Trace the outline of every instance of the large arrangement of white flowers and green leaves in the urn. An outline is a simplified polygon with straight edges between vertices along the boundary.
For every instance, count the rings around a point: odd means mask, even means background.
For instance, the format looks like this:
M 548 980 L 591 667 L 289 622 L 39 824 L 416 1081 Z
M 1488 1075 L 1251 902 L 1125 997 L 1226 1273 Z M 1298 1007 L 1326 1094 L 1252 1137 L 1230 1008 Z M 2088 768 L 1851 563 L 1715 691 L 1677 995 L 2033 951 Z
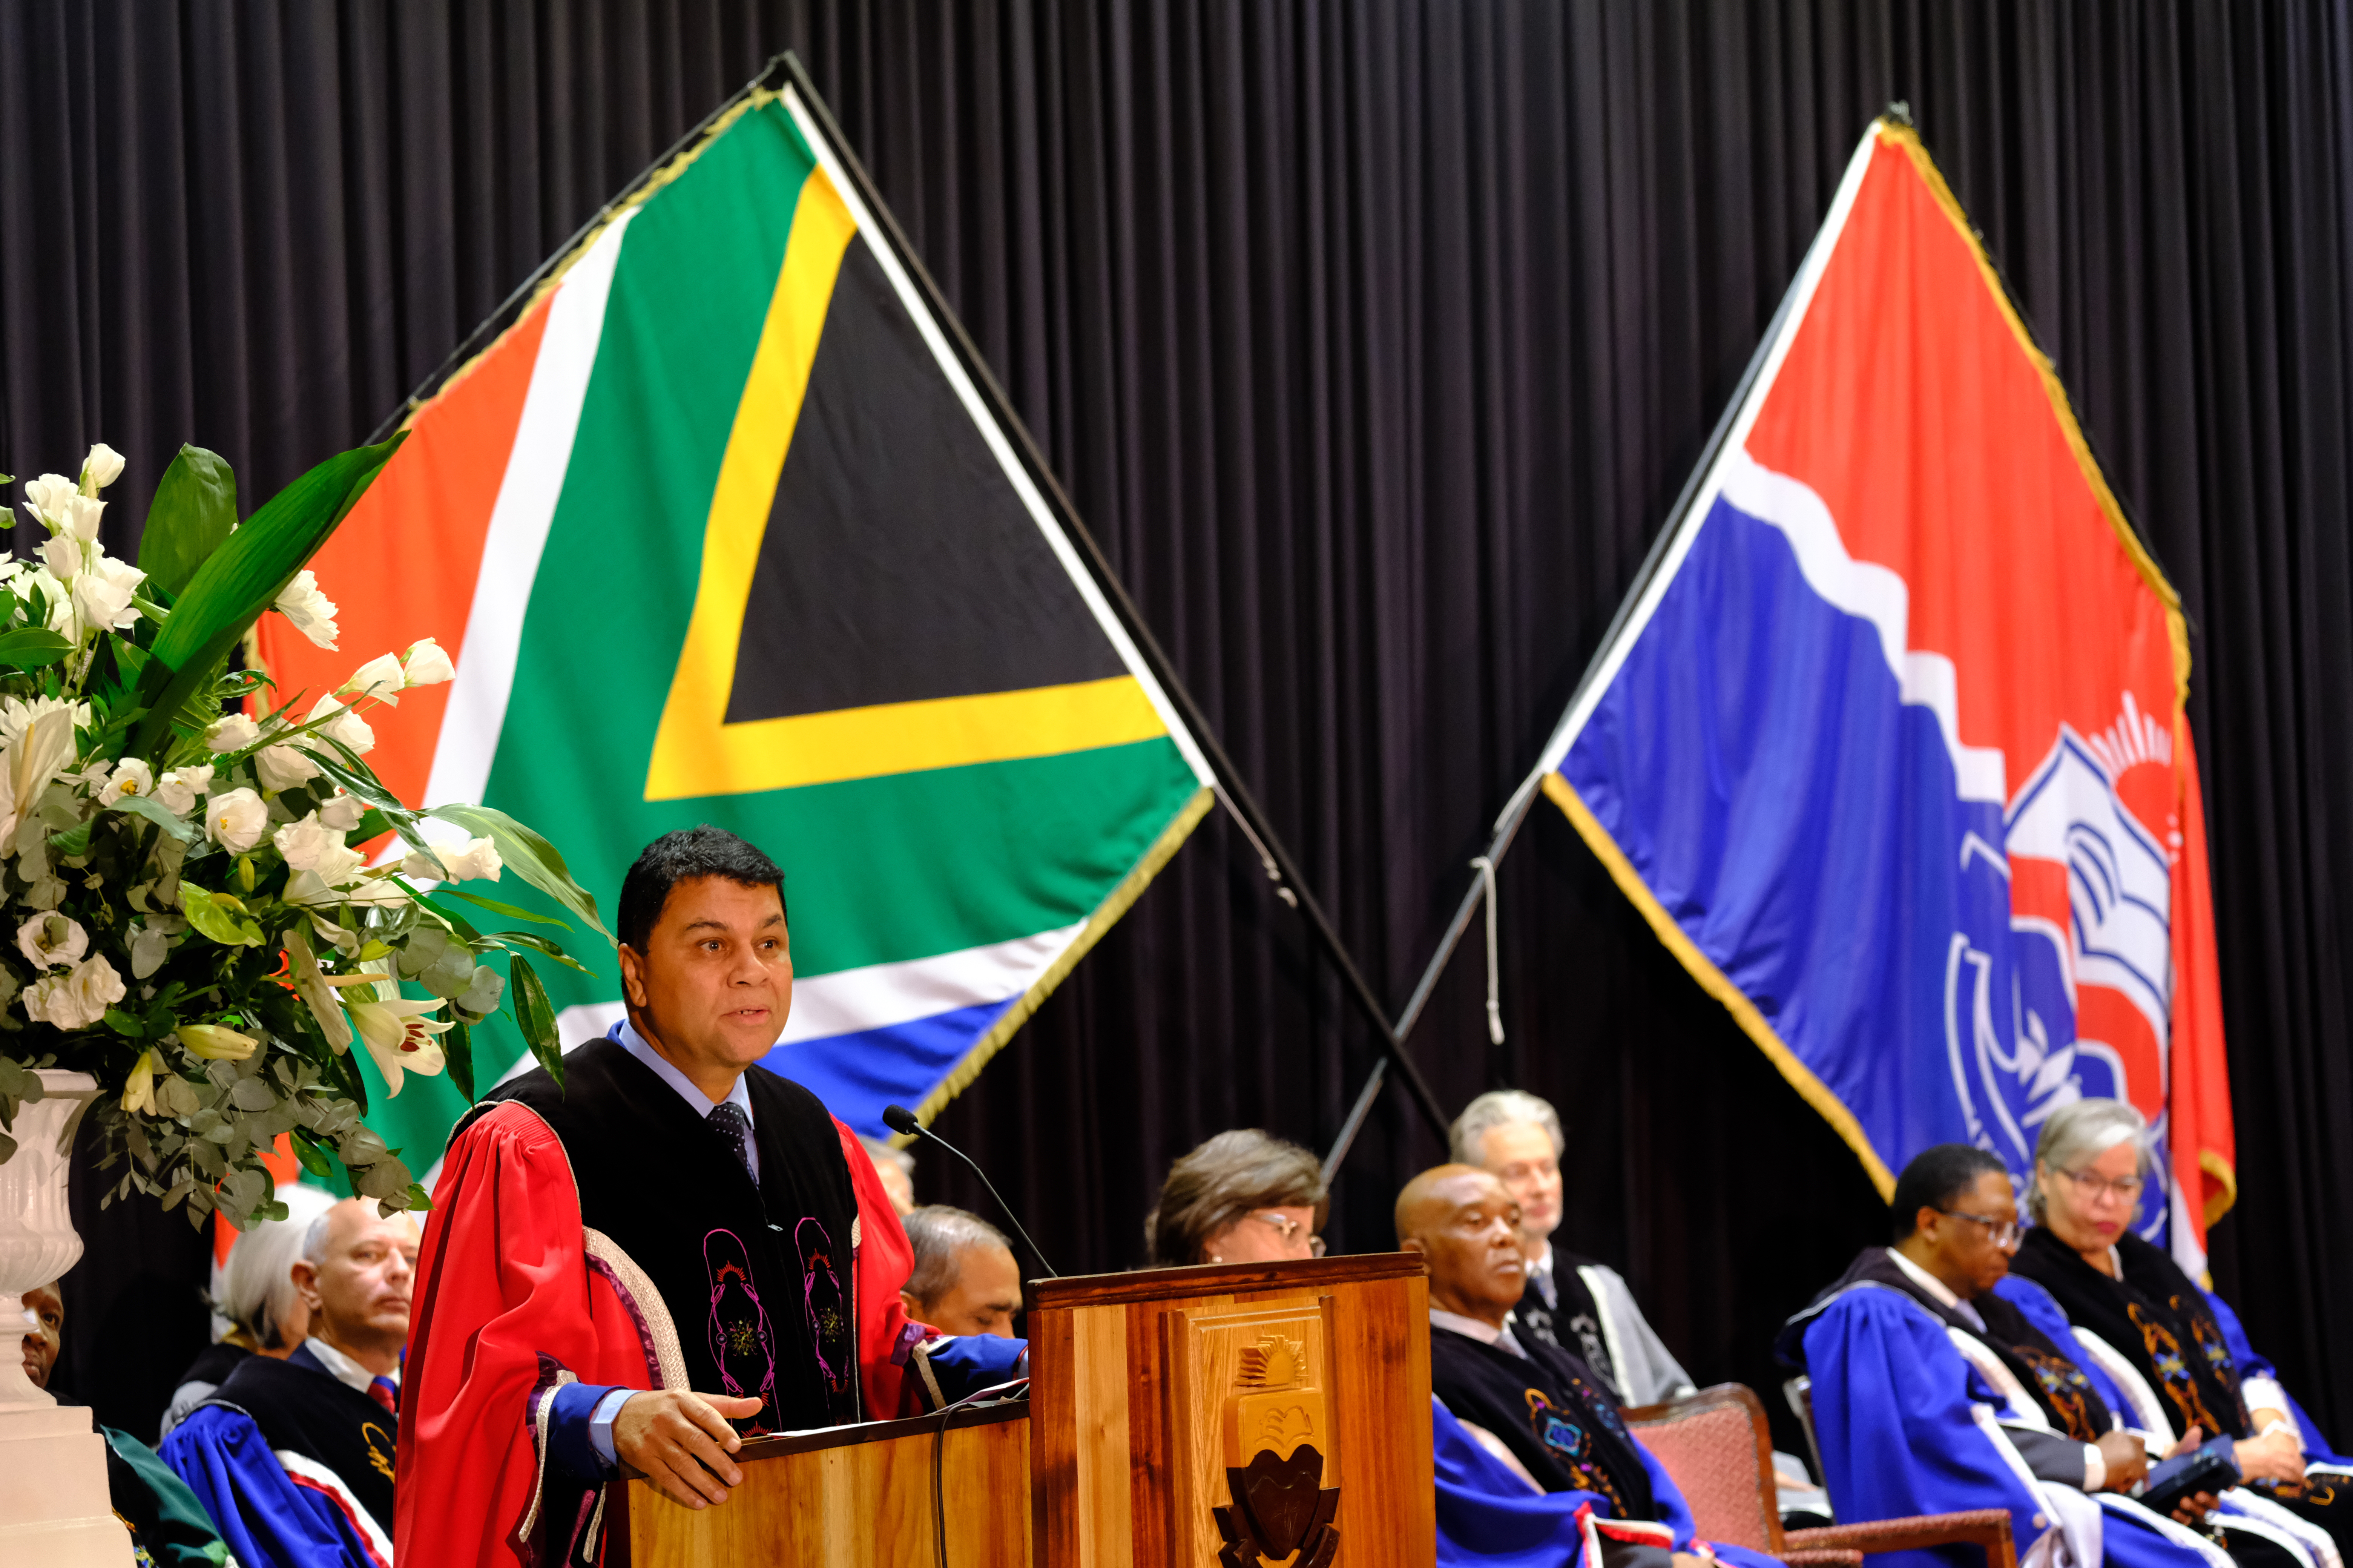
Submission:
M 136 565 L 99 542 L 113 447 L 92 447 L 73 480 L 24 485 L 49 539 L 38 560 L 0 556 L 0 942 L 14 932 L 0 946 L 0 1161 L 16 1104 L 42 1092 L 33 1069 L 66 1067 L 99 1078 L 104 1165 L 127 1165 L 108 1203 L 136 1187 L 198 1224 L 278 1215 L 259 1156 L 292 1135 L 313 1172 L 341 1163 L 358 1194 L 414 1208 L 407 1165 L 360 1123 L 353 1043 L 395 1095 L 405 1074 L 449 1071 L 471 1097 L 468 1029 L 504 1001 L 560 1071 L 522 949 L 572 958 L 546 937 L 478 932 L 459 902 L 546 918 L 456 883 L 513 869 L 602 932 L 595 899 L 520 822 L 414 812 L 365 760 L 367 711 L 452 680 L 449 655 L 426 638 L 308 704 L 231 669 L 271 610 L 336 645 L 336 607 L 304 560 L 395 445 L 320 464 L 242 527 L 226 464 L 181 447 Z M 362 848 L 388 838 L 407 852 Z M 501 954 L 504 977 L 485 963 Z

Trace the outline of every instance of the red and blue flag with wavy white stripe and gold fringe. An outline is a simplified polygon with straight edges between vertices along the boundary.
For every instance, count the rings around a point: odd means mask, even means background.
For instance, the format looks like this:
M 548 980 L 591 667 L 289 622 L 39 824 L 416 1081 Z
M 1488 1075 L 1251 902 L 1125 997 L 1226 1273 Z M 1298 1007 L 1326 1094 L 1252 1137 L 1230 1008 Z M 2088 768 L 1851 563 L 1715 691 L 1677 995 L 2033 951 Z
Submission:
M 2139 1229 L 2233 1198 L 2172 586 L 1951 188 L 1878 122 L 1544 756 L 1661 939 L 1880 1191 L 2137 1104 Z

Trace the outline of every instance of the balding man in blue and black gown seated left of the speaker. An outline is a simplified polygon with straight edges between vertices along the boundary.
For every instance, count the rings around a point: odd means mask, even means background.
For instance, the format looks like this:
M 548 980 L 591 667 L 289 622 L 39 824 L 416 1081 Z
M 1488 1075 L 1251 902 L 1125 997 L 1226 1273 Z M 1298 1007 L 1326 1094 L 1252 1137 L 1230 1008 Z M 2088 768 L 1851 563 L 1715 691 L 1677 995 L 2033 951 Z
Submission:
M 240 1361 L 165 1439 L 165 1462 L 247 1568 L 393 1561 L 414 1267 L 414 1220 L 365 1198 L 329 1208 L 292 1267 L 311 1337 L 285 1361 Z

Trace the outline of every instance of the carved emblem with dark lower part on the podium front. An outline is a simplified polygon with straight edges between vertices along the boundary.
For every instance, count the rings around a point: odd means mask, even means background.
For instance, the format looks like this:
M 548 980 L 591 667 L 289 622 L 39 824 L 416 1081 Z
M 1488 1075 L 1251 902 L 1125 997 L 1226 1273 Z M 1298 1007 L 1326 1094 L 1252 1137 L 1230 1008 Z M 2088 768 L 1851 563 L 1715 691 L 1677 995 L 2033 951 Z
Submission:
M 1294 1568 L 1329 1568 L 1339 1552 L 1339 1488 L 1322 1483 L 1329 1448 L 1325 1391 L 1306 1347 L 1280 1333 L 1242 1349 L 1226 1396 L 1226 1486 L 1231 1504 L 1212 1509 L 1226 1549 L 1224 1568 L 1259 1568 L 1294 1559 Z

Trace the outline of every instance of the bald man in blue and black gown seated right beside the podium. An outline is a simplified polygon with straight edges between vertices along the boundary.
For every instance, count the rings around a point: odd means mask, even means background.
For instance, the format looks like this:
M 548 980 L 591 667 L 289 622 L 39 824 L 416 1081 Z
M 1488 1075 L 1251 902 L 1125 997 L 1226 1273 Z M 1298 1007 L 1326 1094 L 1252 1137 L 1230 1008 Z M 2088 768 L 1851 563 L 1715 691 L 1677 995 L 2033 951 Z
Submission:
M 1513 1335 L 1520 1205 L 1473 1165 L 1398 1194 L 1398 1245 L 1431 1264 L 1438 1561 L 1697 1568 L 1774 1559 L 1692 1537 L 1692 1509 L 1574 1351 Z M 1588 1540 L 1591 1530 L 1591 1540 Z

